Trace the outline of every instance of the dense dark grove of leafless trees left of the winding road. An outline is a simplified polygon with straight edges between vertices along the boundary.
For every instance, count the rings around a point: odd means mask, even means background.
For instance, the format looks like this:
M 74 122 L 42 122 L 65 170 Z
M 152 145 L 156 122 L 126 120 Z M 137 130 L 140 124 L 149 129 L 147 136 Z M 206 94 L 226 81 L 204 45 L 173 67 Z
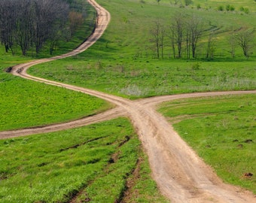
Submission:
M 50 54 L 60 38 L 69 39 L 82 14 L 72 11 L 75 0 L 1 0 L 0 38 L 5 51 L 20 47 L 39 53 L 44 43 L 50 43 Z

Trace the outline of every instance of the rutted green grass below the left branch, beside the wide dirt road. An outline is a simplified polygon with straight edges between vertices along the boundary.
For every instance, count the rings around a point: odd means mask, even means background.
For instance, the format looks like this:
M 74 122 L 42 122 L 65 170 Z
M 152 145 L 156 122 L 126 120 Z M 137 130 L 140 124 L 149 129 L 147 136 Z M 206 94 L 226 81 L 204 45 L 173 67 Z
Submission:
M 67 202 L 78 192 L 91 202 L 114 202 L 122 197 L 141 153 L 133 127 L 123 118 L 2 140 L 1 202 Z M 148 178 L 150 171 L 145 173 Z M 153 188 L 146 189 L 152 193 L 145 202 L 163 200 L 154 183 Z

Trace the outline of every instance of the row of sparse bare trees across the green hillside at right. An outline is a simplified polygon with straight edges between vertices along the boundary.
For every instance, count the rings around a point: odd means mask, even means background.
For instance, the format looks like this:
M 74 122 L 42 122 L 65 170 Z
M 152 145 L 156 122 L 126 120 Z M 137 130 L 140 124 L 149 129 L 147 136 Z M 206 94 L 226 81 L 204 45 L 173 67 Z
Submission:
M 215 28 L 218 30 L 218 28 Z M 206 43 L 206 58 L 212 58 L 215 53 L 215 29 L 209 31 L 206 22 L 195 14 L 176 13 L 168 26 L 159 20 L 151 28 L 150 41 L 154 44 L 157 59 L 163 58 L 163 47 L 171 47 L 173 58 L 197 58 L 197 47 L 202 37 L 209 35 Z M 168 40 L 166 40 L 168 38 Z M 167 44 L 166 41 L 169 41 Z M 166 45 L 167 44 L 167 45 Z M 254 30 L 239 29 L 229 38 L 231 56 L 235 56 L 235 47 L 242 48 L 243 55 L 248 58 L 254 47 Z

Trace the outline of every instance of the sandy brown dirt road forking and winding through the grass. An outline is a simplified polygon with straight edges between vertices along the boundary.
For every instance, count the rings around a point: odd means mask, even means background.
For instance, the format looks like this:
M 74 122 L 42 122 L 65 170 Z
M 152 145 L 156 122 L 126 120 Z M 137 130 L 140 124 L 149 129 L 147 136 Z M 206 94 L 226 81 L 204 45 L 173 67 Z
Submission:
M 23 65 L 17 65 L 12 69 L 12 74 L 47 83 L 54 86 L 62 86 L 79 92 L 105 99 L 116 105 L 116 108 L 98 114 L 94 117 L 87 117 L 70 123 L 44 126 L 33 129 L 22 129 L 10 132 L 0 132 L 0 138 L 11 138 L 22 135 L 32 135 L 42 132 L 53 132 L 61 129 L 69 129 L 76 126 L 86 126 L 101 120 L 109 120 L 114 117 L 129 117 L 136 128 L 145 152 L 148 153 L 154 180 L 156 180 L 160 191 L 172 202 L 256 202 L 256 197 L 248 191 L 239 187 L 222 183 L 211 168 L 206 165 L 200 157 L 192 150 L 172 129 L 166 119 L 154 110 L 154 106 L 160 102 L 176 98 L 193 98 L 211 95 L 245 94 L 256 93 L 246 92 L 206 92 L 183 95 L 166 95 L 154 98 L 145 98 L 138 101 L 130 101 L 103 92 L 91 89 L 72 86 L 33 77 L 26 74 L 26 70 L 32 65 L 41 62 L 49 62 L 55 59 L 62 59 L 81 53 L 99 39 L 108 26 L 110 14 L 100 7 L 94 0 L 89 0 L 98 12 L 98 24 L 95 32 L 87 39 L 81 47 L 62 56 L 55 56 L 50 59 L 40 59 Z

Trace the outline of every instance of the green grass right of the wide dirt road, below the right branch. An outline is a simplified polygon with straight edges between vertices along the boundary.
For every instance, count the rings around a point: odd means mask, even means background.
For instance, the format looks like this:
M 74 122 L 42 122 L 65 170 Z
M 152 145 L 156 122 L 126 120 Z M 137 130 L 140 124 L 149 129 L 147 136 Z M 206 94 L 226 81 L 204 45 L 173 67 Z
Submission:
M 256 95 L 166 102 L 160 112 L 225 182 L 256 193 Z

